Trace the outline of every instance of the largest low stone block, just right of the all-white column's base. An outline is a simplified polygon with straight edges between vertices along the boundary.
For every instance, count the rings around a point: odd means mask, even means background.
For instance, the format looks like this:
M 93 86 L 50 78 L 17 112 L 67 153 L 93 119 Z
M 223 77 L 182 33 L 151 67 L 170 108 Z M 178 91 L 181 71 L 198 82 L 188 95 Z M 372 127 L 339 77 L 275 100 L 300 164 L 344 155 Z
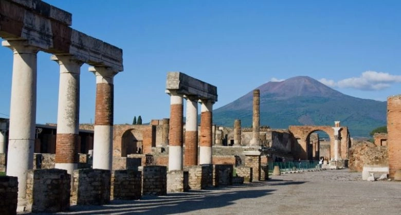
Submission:
M 32 212 L 60 212 L 69 209 L 71 175 L 64 169 L 28 170 L 26 199 Z

